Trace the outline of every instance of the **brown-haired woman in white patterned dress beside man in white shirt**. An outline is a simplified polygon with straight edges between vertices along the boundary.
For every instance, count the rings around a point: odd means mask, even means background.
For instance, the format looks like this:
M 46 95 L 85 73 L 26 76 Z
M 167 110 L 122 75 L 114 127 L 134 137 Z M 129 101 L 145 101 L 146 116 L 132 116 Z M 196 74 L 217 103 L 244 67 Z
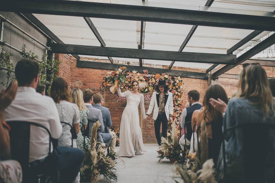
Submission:
M 70 93 L 67 82 L 61 78 L 57 77 L 52 81 L 50 96 L 56 103 L 56 108 L 58 111 L 58 116 L 60 122 L 66 122 L 73 127 L 74 132 L 71 132 L 71 127 L 67 124 L 62 123 L 62 134 L 58 138 L 58 146 L 72 146 L 72 136 L 73 133 L 79 133 L 79 122 L 80 122 L 80 114 L 79 109 L 76 104 L 71 103 Z M 76 146 L 76 139 L 73 139 L 73 146 Z M 80 174 L 78 173 L 75 183 L 80 182 Z

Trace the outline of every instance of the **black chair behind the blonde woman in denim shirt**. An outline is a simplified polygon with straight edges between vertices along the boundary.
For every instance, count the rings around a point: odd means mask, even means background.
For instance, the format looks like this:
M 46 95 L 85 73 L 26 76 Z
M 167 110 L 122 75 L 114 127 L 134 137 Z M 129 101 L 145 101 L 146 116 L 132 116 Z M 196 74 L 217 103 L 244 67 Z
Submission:
M 242 130 L 245 182 L 263 182 L 265 170 L 264 167 L 267 163 L 267 158 L 260 158 L 259 154 L 261 154 L 261 157 L 267 157 L 268 148 L 273 148 L 272 145 L 270 146 L 271 143 L 274 143 L 269 139 L 270 129 L 275 130 L 275 125 L 263 123 L 241 124 L 224 130 L 222 148 L 223 171 L 225 178 L 227 173 L 225 157 L 225 135 L 229 130 Z M 274 163 L 274 159 L 269 162 Z

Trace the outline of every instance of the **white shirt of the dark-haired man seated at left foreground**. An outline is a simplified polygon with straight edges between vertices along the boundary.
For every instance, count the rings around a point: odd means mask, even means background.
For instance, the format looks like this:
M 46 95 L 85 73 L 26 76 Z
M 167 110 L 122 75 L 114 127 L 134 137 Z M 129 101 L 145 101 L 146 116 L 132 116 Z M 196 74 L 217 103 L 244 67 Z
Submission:
M 45 126 L 54 139 L 58 139 L 62 134 L 54 100 L 48 96 L 42 96 L 32 87 L 18 87 L 15 99 L 6 108 L 5 114 L 7 122 L 28 121 Z M 41 127 L 31 125 L 29 162 L 47 157 L 48 152 L 48 133 Z

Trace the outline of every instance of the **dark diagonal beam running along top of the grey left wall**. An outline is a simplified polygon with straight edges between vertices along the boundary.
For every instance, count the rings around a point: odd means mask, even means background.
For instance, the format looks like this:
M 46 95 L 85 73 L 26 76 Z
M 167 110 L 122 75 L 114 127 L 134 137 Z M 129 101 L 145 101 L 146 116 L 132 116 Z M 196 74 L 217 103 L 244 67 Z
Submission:
M 50 29 L 48 29 L 40 20 L 38 20 L 33 14 L 31 13 L 22 13 L 26 18 L 28 18 L 34 25 L 36 25 L 39 29 L 41 29 L 45 34 L 47 34 L 50 38 L 52 38 L 56 43 L 63 44 L 64 42 L 61 41 Z M 80 60 L 79 55 L 72 55 L 77 60 Z

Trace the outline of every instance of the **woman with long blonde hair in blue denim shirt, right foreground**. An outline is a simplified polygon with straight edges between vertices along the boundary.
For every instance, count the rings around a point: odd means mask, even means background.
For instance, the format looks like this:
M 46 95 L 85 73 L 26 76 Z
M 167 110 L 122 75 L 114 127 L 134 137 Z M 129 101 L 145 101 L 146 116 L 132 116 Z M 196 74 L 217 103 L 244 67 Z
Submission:
M 275 106 L 272 92 L 270 90 L 269 82 L 266 76 L 266 71 L 259 64 L 243 65 L 243 70 L 238 81 L 239 97 L 230 100 L 225 117 L 223 120 L 223 129 L 227 129 L 236 125 L 246 124 L 275 124 Z M 274 182 L 275 176 L 275 136 L 274 130 L 270 129 L 266 137 L 266 141 L 262 143 L 269 143 L 268 150 L 263 150 L 260 157 L 264 161 L 264 166 L 260 167 L 264 171 L 264 177 L 259 177 L 254 172 L 249 177 L 256 178 L 255 182 Z M 255 134 L 256 136 L 261 134 Z M 269 140 L 267 140 L 267 138 Z M 245 180 L 245 162 L 244 157 L 249 154 L 244 154 L 243 146 L 243 130 L 235 129 L 229 130 L 225 134 L 225 152 L 227 162 L 226 178 L 229 182 L 247 182 Z M 255 144 L 255 148 L 257 144 Z M 248 152 L 249 153 L 249 152 Z M 223 158 L 222 153 L 219 156 L 218 173 L 219 178 L 223 176 Z M 257 167 L 259 170 L 259 167 Z M 272 179 L 273 178 L 273 179 Z M 230 180 L 229 180 L 230 179 Z M 220 182 L 220 181 L 219 181 Z

